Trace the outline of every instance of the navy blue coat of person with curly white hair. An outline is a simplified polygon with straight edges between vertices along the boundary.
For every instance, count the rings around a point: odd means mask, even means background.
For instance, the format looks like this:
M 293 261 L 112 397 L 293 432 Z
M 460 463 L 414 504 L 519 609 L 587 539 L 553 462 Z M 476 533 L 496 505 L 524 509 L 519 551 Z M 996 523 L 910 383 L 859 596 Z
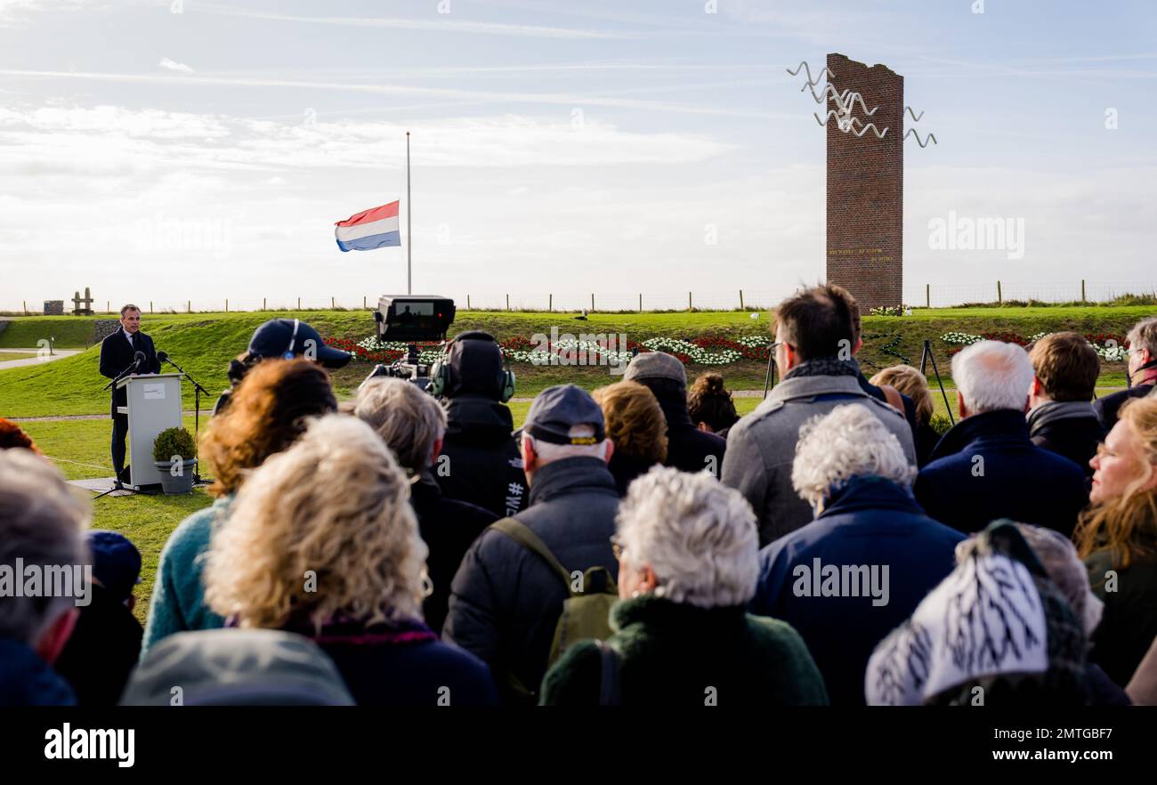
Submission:
M 749 611 L 782 619 L 803 636 L 833 706 L 863 705 L 864 670 L 876 644 L 952 572 L 961 540 L 959 531 L 924 515 L 908 489 L 882 477 L 855 477 L 815 521 L 759 552 L 759 585 Z M 887 603 L 874 604 L 862 584 L 860 596 L 847 596 L 852 592 L 842 586 L 845 596 L 815 596 L 815 573 L 828 565 L 841 577 L 845 565 L 875 565 Z

